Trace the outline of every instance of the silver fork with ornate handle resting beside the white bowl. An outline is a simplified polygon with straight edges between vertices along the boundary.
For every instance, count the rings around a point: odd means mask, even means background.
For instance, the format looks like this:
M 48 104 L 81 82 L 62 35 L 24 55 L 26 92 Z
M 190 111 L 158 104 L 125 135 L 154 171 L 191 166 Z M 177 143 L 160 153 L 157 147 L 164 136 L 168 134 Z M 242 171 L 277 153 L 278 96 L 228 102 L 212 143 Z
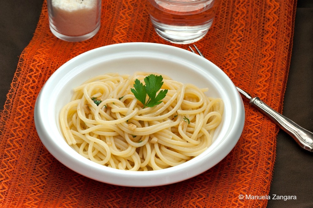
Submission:
M 193 53 L 196 53 L 197 51 L 200 56 L 204 57 L 196 45 L 193 44 L 193 47 L 195 48 L 195 50 L 193 50 L 191 46 L 189 46 L 189 49 Z M 251 97 L 248 92 L 245 92 L 239 87 L 237 87 L 237 90 L 244 97 L 250 100 L 251 105 L 258 108 L 265 115 L 269 116 L 269 118 L 272 121 L 274 121 L 278 126 L 280 126 L 281 129 L 283 129 L 292 138 L 294 138 L 294 140 L 297 142 L 298 145 L 300 145 L 300 147 L 302 147 L 305 150 L 313 152 L 313 133 L 312 132 L 307 131 L 306 129 L 297 125 L 295 122 L 281 115 L 280 113 L 275 111 L 273 108 L 269 107 L 264 102 L 262 102 L 259 97 Z

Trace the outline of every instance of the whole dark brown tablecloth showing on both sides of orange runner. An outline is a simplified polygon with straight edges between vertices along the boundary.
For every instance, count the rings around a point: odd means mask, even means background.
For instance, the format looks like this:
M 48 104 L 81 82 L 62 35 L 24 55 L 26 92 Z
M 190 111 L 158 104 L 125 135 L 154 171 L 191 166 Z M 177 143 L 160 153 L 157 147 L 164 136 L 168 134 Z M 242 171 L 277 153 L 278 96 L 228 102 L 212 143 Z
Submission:
M 36 29 L 43 0 L 0 1 L 0 111 L 6 101 L 19 55 Z M 298 0 L 283 115 L 313 132 L 313 0 Z M 268 207 L 313 208 L 313 153 L 285 132 L 277 137 L 276 161 Z

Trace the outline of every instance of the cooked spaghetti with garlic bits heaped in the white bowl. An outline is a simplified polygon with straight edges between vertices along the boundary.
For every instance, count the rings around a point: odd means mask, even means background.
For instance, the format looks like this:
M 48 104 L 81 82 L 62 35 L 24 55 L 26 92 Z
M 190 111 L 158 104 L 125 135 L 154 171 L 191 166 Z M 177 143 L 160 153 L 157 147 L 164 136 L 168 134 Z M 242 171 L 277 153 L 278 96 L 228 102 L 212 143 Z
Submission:
M 131 88 L 147 75 L 110 73 L 74 88 L 60 112 L 67 143 L 91 161 L 131 171 L 176 166 L 205 151 L 222 120 L 223 101 L 162 75 L 165 98 L 143 108 Z

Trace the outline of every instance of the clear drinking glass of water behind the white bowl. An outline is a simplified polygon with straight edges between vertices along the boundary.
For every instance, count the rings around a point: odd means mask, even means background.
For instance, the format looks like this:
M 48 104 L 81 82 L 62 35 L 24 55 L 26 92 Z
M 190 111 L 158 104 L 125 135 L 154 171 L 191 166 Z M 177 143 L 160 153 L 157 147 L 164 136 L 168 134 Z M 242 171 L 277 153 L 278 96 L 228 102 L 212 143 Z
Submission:
M 219 0 L 148 0 L 156 33 L 177 44 L 196 42 L 207 34 Z

